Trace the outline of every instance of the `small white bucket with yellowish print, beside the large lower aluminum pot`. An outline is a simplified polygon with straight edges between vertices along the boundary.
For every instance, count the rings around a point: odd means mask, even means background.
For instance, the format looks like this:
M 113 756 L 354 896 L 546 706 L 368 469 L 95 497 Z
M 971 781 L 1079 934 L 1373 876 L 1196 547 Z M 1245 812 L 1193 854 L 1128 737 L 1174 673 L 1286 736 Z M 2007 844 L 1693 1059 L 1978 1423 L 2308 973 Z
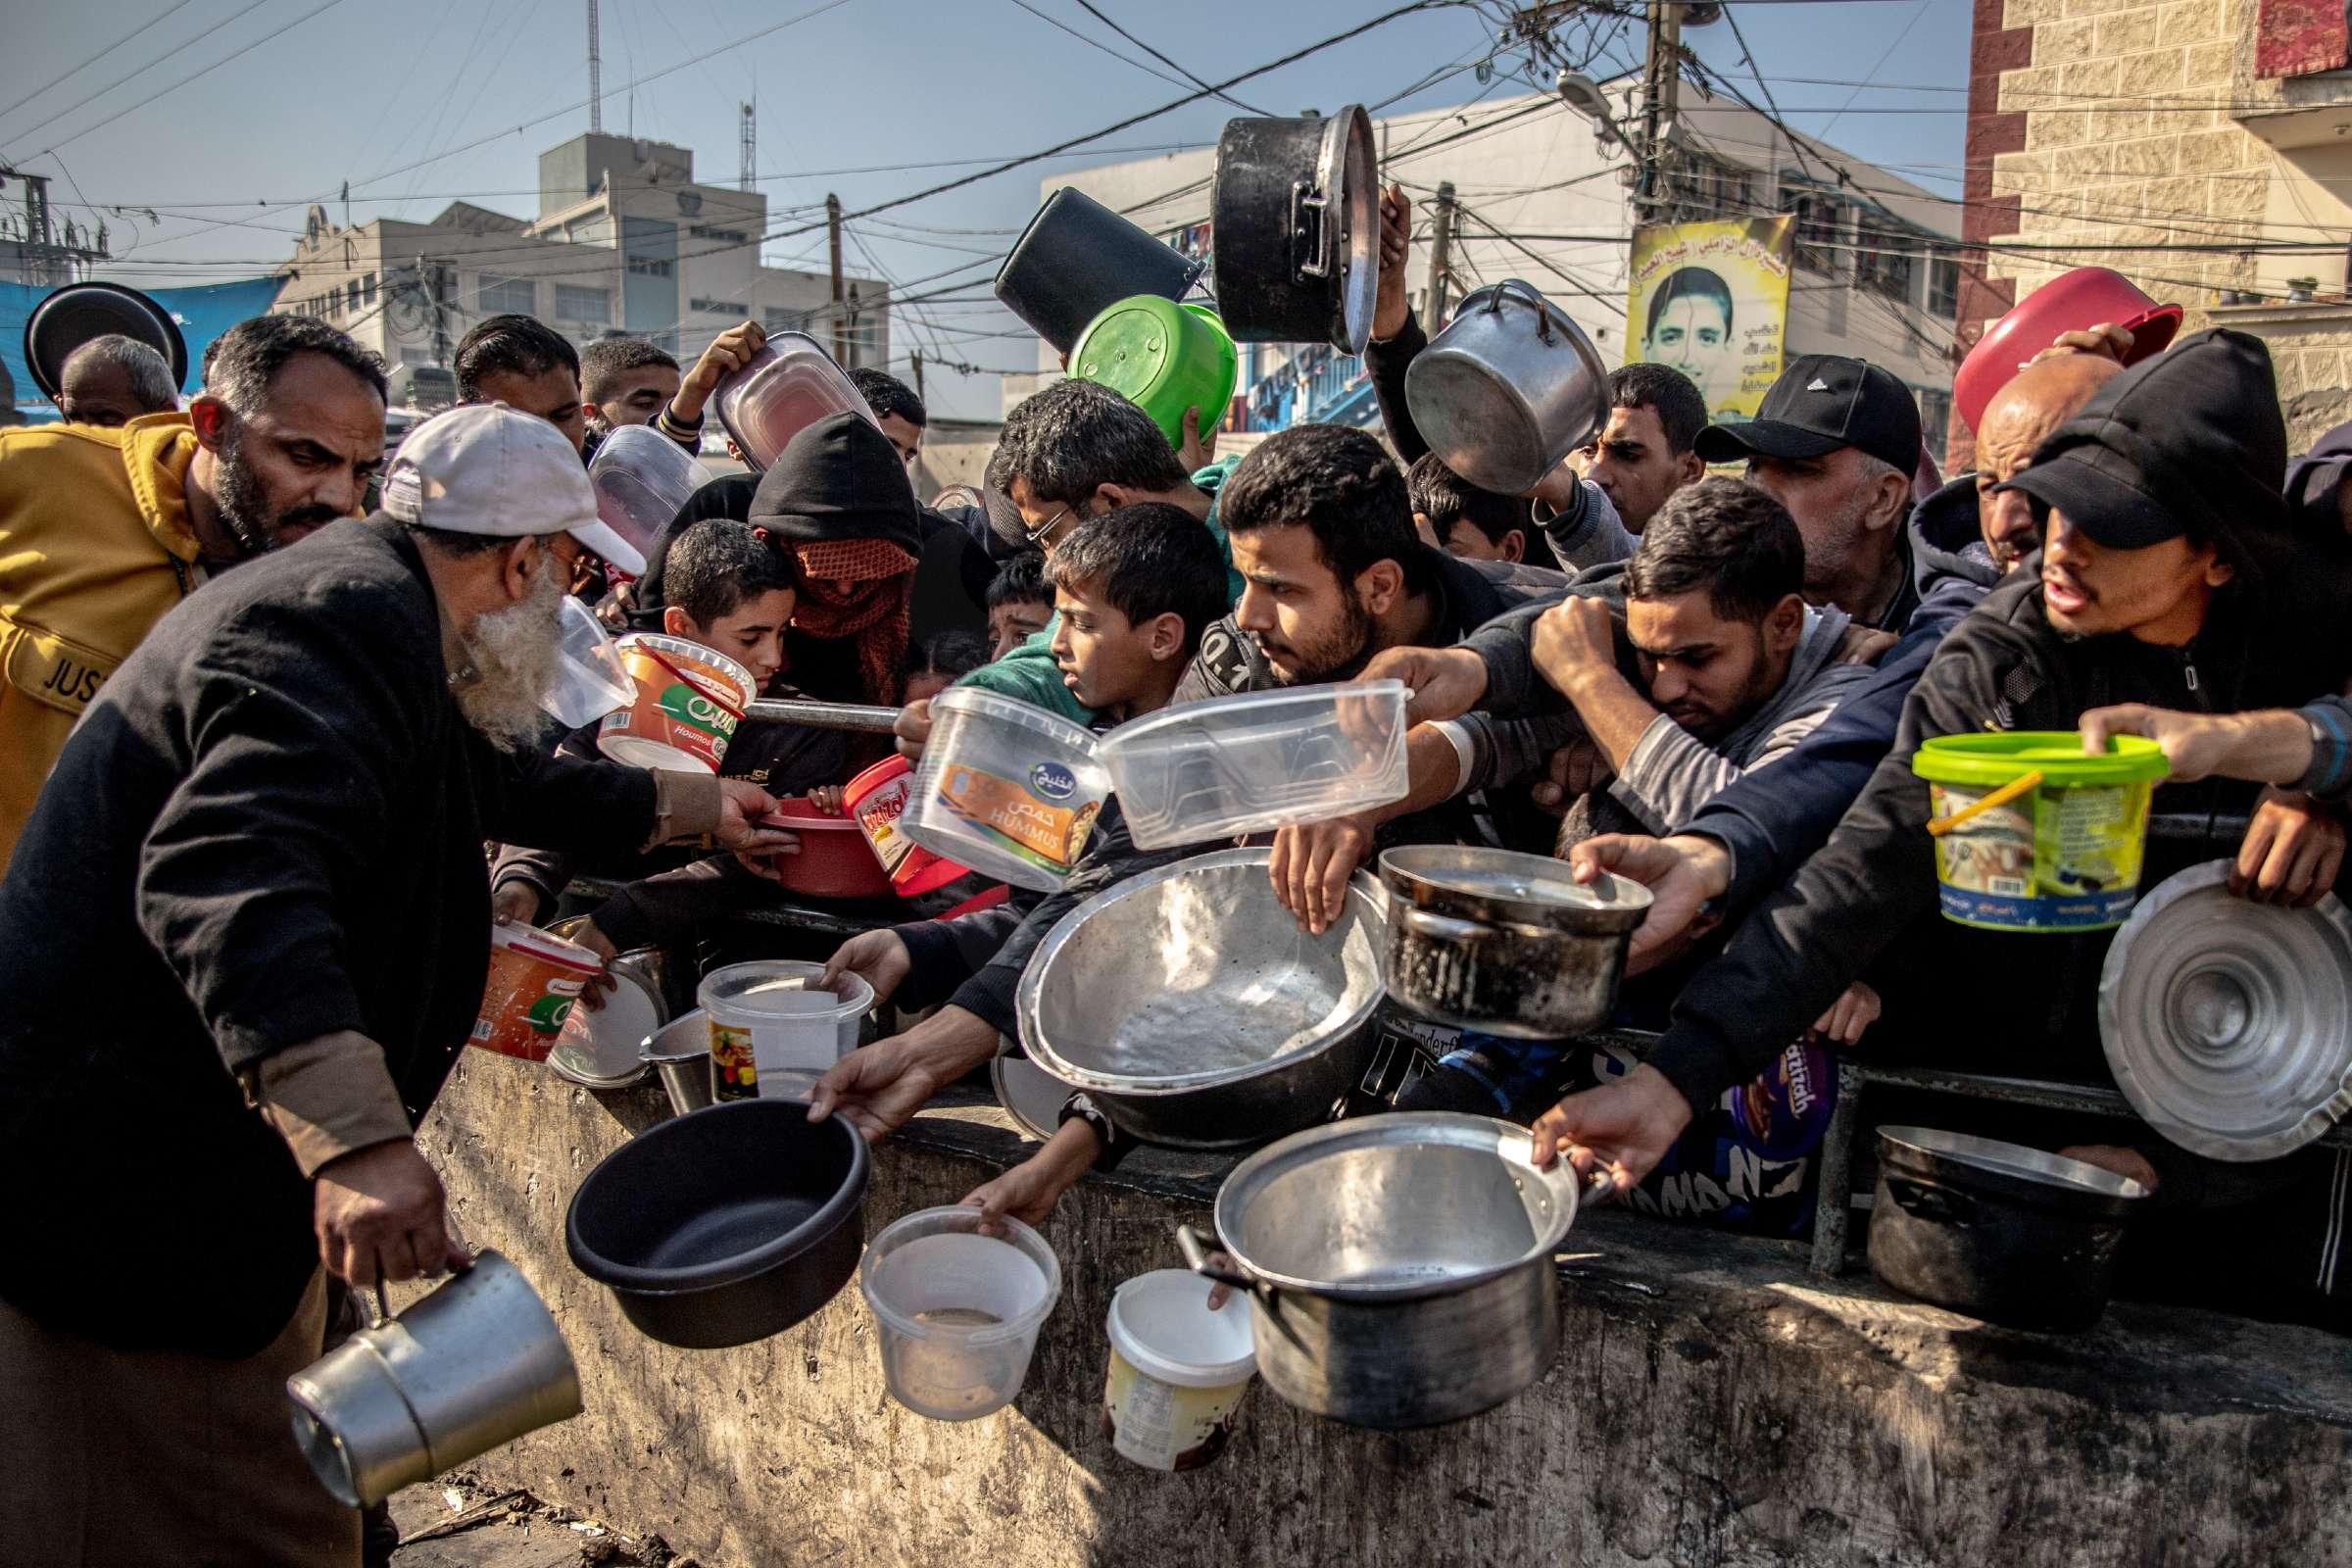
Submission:
M 1110 1446 L 1145 1469 L 1200 1469 L 1225 1450 L 1258 1373 L 1249 1302 L 1209 1312 L 1190 1269 L 1136 1274 L 1110 1298 Z

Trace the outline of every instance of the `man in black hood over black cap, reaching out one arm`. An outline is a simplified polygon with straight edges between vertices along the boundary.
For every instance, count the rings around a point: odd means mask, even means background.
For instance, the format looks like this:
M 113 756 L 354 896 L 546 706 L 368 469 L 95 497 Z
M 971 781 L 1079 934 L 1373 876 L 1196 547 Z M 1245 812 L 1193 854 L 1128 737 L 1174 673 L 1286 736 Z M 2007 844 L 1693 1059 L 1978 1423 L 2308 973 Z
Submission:
M 1538 1157 L 1576 1143 L 1578 1164 L 1639 1180 L 1693 1105 L 1752 1079 L 1898 940 L 1907 961 L 1877 976 L 1905 983 L 1919 1004 L 1912 1037 L 1945 1060 L 2105 1081 L 2093 994 L 2112 931 L 2013 936 L 1938 919 L 1929 785 L 1912 752 L 1936 736 L 2072 731 L 2107 703 L 2244 712 L 2340 689 L 2352 649 L 2328 602 L 2340 604 L 2345 550 L 2291 531 L 2284 470 L 2270 355 L 2237 331 L 2185 339 L 2060 425 L 2002 487 L 2044 515 L 2039 571 L 1997 588 L 1943 639 L 1893 752 L 1830 842 L 1684 987 L 1649 1065 L 1536 1124 Z M 2253 785 L 2201 780 L 2159 785 L 2154 804 L 2234 816 L 2251 802 Z M 2211 853 L 2150 842 L 2140 886 Z M 2300 1175 L 2216 1171 L 2138 1126 L 2065 1135 L 2091 1138 L 2077 1157 L 2152 1182 L 2166 1206 Z

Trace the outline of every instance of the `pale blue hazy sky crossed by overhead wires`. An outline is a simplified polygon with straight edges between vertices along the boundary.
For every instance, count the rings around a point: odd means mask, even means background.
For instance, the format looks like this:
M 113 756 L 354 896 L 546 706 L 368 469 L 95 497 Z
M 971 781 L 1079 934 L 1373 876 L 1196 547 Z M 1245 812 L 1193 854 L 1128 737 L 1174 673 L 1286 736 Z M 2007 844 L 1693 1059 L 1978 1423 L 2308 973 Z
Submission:
M 1094 2 L 1185 71 L 1223 80 L 1395 0 Z M 1792 125 L 1952 195 L 1969 9 L 1957 0 L 1726 7 Z M 1494 47 L 1501 12 L 1489 2 L 1404 16 L 1232 94 L 1268 113 L 1331 110 L 1378 103 L 1454 66 L 1463 68 L 1395 108 L 1524 92 L 1508 75 L 1482 85 L 1468 68 Z M 673 71 L 762 28 L 776 31 Z M 588 129 L 583 0 L 0 0 L 0 165 L 56 176 L 59 216 L 89 223 L 99 209 L 120 256 L 101 275 L 120 282 L 268 270 L 289 254 L 306 202 L 325 197 L 341 221 L 334 197 L 346 181 L 362 223 L 426 219 L 456 197 L 529 214 L 539 150 Z M 1762 96 L 1729 21 L 1684 38 Z M 1585 24 L 1564 33 L 1564 42 L 1585 40 Z M 786 207 L 823 202 L 828 190 L 856 209 L 1192 89 L 1152 75 L 1169 71 L 1077 0 L 604 0 L 602 49 L 604 129 L 694 148 L 696 176 L 710 183 L 734 183 L 736 106 L 757 96 L 771 228 L 790 221 Z M 1590 71 L 1606 78 L 1637 66 L 1639 49 L 1639 28 L 1628 28 Z M 1508 73 L 1519 61 L 1524 54 L 1505 54 L 1496 66 Z M 927 306 L 920 327 L 894 320 L 891 350 L 920 343 L 927 355 L 1028 369 L 1028 336 L 981 296 L 993 259 L 1037 202 L 1037 181 L 1145 148 L 1214 143 L 1235 113 L 1221 101 L 1192 103 L 1068 158 L 854 223 L 854 270 L 908 282 L 971 268 L 971 287 Z M 0 202 L 14 205 L 16 193 Z M 155 221 L 146 212 L 125 219 L 111 212 L 118 205 L 151 207 Z M 821 268 L 823 233 L 776 242 L 767 261 Z M 995 414 L 997 404 L 995 378 L 931 374 L 929 393 L 948 414 Z

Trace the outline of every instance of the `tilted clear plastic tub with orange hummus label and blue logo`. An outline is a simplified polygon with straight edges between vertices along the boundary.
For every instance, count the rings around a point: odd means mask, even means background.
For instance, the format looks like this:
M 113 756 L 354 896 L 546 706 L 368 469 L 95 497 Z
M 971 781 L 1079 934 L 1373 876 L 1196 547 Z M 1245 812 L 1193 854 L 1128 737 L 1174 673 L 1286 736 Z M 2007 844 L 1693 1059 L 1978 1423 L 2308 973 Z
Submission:
M 898 830 L 983 877 L 1051 893 L 1084 853 L 1105 799 L 1110 773 L 1082 724 L 953 686 L 931 698 L 931 738 Z

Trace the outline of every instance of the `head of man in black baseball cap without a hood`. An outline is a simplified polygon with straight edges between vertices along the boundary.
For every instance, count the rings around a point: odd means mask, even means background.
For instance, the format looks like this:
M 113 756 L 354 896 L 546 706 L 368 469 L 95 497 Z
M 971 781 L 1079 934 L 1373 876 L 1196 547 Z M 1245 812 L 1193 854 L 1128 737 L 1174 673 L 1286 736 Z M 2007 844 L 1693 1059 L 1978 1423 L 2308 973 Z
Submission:
M 1708 463 L 1748 463 L 1804 534 L 1804 597 L 1900 632 L 1915 609 L 1910 522 L 1919 404 L 1891 374 L 1849 355 L 1804 355 L 1743 425 L 1698 433 Z

